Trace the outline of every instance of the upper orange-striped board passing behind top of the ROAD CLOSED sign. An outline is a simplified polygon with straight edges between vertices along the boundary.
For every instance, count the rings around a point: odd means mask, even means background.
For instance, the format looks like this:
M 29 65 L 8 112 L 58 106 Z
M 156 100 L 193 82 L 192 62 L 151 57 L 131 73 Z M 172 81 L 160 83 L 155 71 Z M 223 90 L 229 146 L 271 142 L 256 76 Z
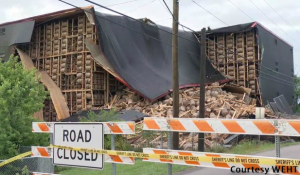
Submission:
M 53 133 L 55 122 L 32 122 L 32 132 Z M 60 122 L 61 123 L 61 122 Z M 72 122 L 66 122 L 72 123 Z M 89 123 L 89 122 L 85 122 Z M 135 134 L 135 122 L 100 122 L 104 134 Z

